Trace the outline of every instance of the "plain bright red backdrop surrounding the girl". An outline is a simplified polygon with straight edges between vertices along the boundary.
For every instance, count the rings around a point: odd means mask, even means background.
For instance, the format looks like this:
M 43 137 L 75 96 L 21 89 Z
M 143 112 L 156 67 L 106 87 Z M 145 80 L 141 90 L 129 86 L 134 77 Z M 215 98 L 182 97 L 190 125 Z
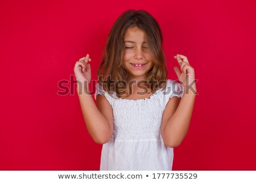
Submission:
M 86 53 L 97 79 L 106 37 L 128 9 L 158 20 L 169 79 L 176 54 L 199 79 L 173 170 L 256 170 L 255 1 L 148 0 L 1 0 L 0 170 L 99 170 L 102 146 L 86 130 L 76 84 L 61 96 L 57 83 Z

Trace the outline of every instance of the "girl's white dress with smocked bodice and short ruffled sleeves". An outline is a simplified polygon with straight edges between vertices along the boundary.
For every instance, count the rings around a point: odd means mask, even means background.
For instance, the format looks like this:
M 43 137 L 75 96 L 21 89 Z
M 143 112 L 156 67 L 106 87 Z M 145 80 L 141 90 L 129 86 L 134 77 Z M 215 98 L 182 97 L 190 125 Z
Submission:
M 112 105 L 114 131 L 102 146 L 100 170 L 172 170 L 174 149 L 164 145 L 161 124 L 169 98 L 182 98 L 184 87 L 168 79 L 163 91 L 146 99 L 119 99 L 96 84 L 96 95 L 105 95 Z

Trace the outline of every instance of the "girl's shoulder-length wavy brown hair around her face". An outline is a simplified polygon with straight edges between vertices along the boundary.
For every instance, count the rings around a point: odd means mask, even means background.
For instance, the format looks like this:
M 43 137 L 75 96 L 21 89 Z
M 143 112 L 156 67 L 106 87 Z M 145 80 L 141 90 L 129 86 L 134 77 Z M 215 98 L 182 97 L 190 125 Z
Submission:
M 151 88 L 151 92 L 164 89 L 166 87 L 167 68 L 166 58 L 163 52 L 163 36 L 156 19 L 144 10 L 127 10 L 119 16 L 110 29 L 102 61 L 98 68 L 98 83 L 110 95 L 113 91 L 121 98 L 123 94 L 120 90 L 127 88 L 127 70 L 123 66 L 123 53 L 125 44 L 123 43 L 125 33 L 128 28 L 141 29 L 147 39 L 148 48 L 152 54 L 153 67 L 148 71 L 144 86 Z M 128 92 L 131 93 L 129 84 Z

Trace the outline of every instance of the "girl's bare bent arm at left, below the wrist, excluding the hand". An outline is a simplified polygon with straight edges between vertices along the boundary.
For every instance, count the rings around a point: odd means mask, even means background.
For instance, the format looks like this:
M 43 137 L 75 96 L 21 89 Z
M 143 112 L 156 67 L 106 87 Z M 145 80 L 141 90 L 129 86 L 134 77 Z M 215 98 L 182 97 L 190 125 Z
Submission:
M 90 136 L 96 143 L 108 142 L 113 133 L 113 112 L 108 100 L 104 95 L 97 95 L 97 107 L 89 89 L 87 93 L 84 90 L 79 93 L 79 87 L 77 87 L 77 94 Z

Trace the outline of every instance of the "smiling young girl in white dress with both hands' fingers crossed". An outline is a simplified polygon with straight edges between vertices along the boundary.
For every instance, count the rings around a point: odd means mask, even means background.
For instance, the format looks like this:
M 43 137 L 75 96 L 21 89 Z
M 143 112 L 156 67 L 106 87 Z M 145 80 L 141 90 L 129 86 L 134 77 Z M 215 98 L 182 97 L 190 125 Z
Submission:
M 86 127 L 103 144 L 100 170 L 172 170 L 174 147 L 191 120 L 195 72 L 187 57 L 177 54 L 180 83 L 167 79 L 162 41 L 159 24 L 148 12 L 128 10 L 119 16 L 98 69 L 97 107 L 89 90 L 89 54 L 75 64 Z

